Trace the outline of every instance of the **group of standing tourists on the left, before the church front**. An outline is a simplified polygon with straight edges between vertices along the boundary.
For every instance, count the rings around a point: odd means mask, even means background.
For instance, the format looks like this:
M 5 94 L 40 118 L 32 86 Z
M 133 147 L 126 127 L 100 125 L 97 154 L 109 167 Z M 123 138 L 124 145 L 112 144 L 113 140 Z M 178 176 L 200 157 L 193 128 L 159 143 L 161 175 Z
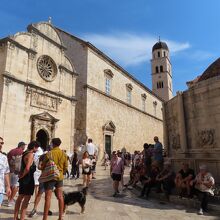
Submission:
M 83 186 L 88 187 L 91 179 L 95 179 L 97 148 L 92 143 L 92 139 L 88 140 L 82 160 L 78 158 L 76 151 L 70 158 L 66 151 L 61 150 L 59 138 L 53 138 L 46 151 L 43 151 L 37 141 L 30 142 L 26 150 L 26 144 L 19 142 L 18 146 L 8 154 L 3 153 L 3 145 L 3 138 L 0 137 L 0 207 L 6 196 L 7 206 L 14 206 L 14 220 L 25 219 L 34 192 L 34 208 L 29 213 L 29 217 L 37 214 L 42 194 L 45 193 L 43 220 L 46 220 L 48 215 L 52 215 L 50 204 L 53 191 L 58 200 L 59 220 L 62 220 L 64 176 L 79 178 L 81 163 Z M 68 162 L 72 165 L 70 174 Z M 15 200 L 17 193 L 18 197 Z

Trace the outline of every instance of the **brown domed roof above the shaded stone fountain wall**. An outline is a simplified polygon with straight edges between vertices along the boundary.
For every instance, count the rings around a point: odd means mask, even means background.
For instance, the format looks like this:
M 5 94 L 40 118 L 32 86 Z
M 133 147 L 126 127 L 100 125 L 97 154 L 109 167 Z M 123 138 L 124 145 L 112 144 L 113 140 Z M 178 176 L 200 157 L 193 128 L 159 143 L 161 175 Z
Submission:
M 220 76 L 220 58 L 218 58 L 205 70 L 205 72 L 199 77 L 198 82 L 213 78 L 215 76 Z

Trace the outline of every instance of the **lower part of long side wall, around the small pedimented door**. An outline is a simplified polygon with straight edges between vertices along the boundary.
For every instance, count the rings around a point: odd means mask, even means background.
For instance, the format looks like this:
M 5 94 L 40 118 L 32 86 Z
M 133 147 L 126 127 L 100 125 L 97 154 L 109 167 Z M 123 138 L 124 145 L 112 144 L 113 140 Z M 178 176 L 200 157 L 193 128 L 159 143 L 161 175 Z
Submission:
M 144 143 L 153 143 L 155 135 L 163 140 L 161 120 L 88 88 L 87 135 L 99 146 L 101 156 L 105 146 L 103 127 L 108 121 L 115 125 L 112 150 L 142 150 Z

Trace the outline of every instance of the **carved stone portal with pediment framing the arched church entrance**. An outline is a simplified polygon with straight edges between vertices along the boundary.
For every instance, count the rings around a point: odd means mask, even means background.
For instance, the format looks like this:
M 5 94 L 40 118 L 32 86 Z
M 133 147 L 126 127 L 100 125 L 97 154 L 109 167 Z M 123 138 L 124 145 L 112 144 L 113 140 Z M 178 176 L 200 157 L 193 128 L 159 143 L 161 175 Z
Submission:
M 31 116 L 31 140 L 36 140 L 37 132 L 43 130 L 49 141 L 55 137 L 56 123 L 59 120 L 47 112 Z

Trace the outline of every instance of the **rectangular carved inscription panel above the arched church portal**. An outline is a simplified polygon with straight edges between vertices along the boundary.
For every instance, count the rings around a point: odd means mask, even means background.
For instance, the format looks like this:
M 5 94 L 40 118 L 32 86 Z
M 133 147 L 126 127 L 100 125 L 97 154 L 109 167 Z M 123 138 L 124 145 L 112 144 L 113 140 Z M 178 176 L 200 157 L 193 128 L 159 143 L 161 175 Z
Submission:
M 61 102 L 60 98 L 52 97 L 46 93 L 31 91 L 31 106 L 56 112 L 58 104 L 61 104 Z

